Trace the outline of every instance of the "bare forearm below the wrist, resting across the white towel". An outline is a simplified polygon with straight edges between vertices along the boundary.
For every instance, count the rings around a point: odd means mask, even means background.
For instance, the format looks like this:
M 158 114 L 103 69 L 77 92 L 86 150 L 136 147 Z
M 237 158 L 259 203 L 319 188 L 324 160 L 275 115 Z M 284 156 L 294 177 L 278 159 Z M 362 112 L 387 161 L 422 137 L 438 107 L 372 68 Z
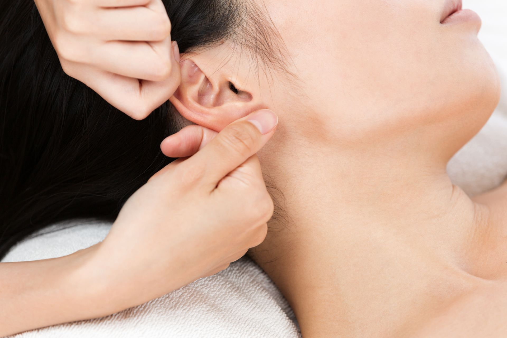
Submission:
M 0 336 L 82 319 L 116 309 L 105 285 L 89 274 L 96 247 L 68 256 L 0 264 Z

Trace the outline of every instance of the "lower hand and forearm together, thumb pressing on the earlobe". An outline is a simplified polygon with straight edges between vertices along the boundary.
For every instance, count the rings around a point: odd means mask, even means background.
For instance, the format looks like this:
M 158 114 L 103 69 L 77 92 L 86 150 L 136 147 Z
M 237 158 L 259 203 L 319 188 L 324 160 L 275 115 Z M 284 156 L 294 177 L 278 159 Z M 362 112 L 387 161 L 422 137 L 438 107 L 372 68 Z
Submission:
M 63 257 L 0 263 L 0 336 L 146 303 L 226 269 L 261 243 L 273 201 L 255 154 L 277 121 L 272 111 L 253 112 L 166 166 L 128 199 L 102 242 Z

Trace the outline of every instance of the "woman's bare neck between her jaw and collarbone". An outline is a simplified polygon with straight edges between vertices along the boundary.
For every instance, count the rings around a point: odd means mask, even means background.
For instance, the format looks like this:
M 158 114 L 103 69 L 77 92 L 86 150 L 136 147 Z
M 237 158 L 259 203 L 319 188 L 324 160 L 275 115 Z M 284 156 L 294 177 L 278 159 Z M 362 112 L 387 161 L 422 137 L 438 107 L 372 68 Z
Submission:
M 250 255 L 304 336 L 403 336 L 478 282 L 462 267 L 486 211 L 451 183 L 445 161 L 385 145 L 300 145 L 261 154 L 281 210 Z

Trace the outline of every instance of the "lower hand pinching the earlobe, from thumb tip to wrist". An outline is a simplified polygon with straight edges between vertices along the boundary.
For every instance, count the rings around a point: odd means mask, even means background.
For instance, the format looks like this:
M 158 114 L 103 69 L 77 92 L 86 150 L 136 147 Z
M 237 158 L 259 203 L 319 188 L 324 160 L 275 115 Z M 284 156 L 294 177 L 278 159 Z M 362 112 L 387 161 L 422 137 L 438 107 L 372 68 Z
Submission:
M 256 153 L 277 121 L 260 110 L 230 124 L 128 199 L 87 264 L 115 285 L 115 310 L 220 272 L 264 240 L 273 201 Z

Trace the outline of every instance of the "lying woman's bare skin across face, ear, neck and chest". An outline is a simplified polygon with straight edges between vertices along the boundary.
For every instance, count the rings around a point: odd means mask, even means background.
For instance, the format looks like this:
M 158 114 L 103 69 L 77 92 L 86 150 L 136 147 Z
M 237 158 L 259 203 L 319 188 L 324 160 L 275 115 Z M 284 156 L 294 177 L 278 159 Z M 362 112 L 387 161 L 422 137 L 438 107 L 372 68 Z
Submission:
M 263 3 L 297 80 L 226 42 L 182 56 L 171 102 L 215 131 L 278 112 L 259 157 L 281 216 L 249 254 L 303 336 L 504 336 L 507 184 L 472 199 L 446 173 L 499 99 L 480 22 L 442 24 L 444 0 Z

